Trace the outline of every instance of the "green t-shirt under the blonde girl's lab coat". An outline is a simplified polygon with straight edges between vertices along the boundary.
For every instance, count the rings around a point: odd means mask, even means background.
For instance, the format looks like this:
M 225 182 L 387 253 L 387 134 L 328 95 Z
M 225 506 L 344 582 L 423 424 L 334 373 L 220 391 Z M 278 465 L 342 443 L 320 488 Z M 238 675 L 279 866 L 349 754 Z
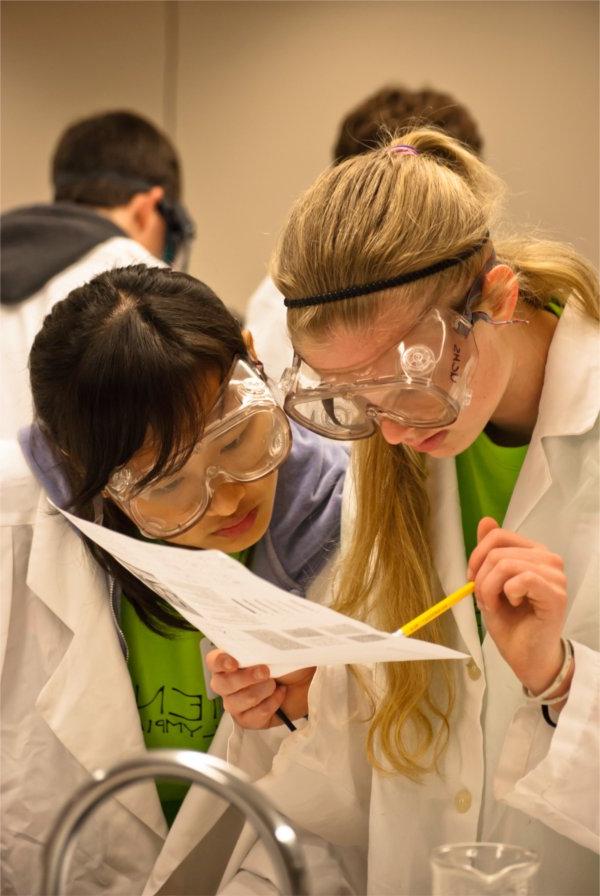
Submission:
M 484 516 L 501 526 L 527 454 L 528 445 L 505 448 L 482 432 L 466 451 L 456 455 L 463 537 L 467 559 L 477 545 L 477 526 Z M 479 640 L 484 631 L 476 608 Z

